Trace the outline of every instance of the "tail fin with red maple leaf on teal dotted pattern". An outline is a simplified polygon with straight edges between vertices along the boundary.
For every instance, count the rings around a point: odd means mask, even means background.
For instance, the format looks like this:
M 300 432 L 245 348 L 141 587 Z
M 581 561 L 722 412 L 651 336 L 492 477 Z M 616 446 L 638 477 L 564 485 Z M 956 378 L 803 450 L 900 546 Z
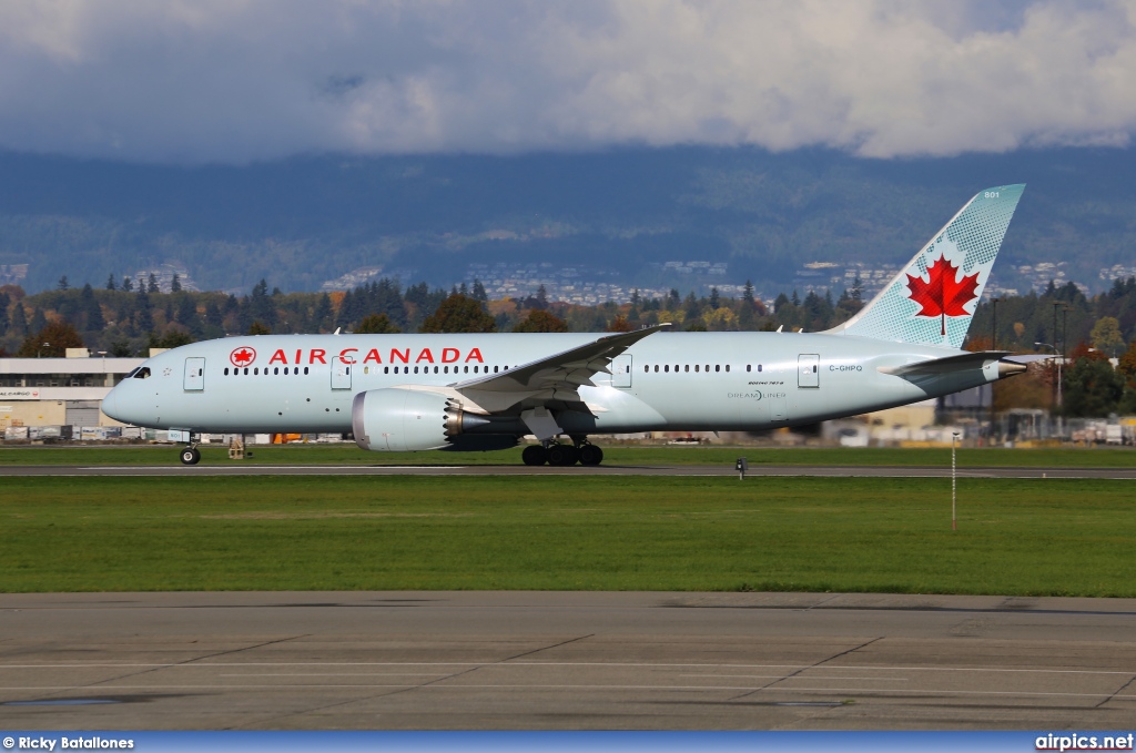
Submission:
M 830 334 L 959 349 L 1025 184 L 975 195 L 863 309 Z

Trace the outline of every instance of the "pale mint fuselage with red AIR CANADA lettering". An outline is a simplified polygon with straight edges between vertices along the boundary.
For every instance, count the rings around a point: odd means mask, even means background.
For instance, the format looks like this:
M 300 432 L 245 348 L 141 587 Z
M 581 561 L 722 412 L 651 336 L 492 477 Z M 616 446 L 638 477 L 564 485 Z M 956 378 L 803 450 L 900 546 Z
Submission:
M 356 394 L 445 388 L 595 341 L 598 334 L 265 335 L 194 343 L 145 361 L 145 378 L 103 402 L 118 420 L 190 432 L 351 430 Z M 569 434 L 759 430 L 852 416 L 997 377 L 996 358 L 946 375 L 880 368 L 961 351 L 799 333 L 644 337 L 580 386 L 587 411 L 558 415 Z M 503 411 L 483 433 L 525 434 Z

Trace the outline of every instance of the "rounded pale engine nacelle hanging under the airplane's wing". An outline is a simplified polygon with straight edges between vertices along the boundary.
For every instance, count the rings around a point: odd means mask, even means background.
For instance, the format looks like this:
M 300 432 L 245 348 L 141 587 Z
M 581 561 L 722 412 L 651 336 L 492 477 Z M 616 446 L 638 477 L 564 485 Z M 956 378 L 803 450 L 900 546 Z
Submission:
M 436 392 L 371 390 L 351 403 L 356 444 L 378 452 L 440 450 L 461 434 L 461 404 Z

